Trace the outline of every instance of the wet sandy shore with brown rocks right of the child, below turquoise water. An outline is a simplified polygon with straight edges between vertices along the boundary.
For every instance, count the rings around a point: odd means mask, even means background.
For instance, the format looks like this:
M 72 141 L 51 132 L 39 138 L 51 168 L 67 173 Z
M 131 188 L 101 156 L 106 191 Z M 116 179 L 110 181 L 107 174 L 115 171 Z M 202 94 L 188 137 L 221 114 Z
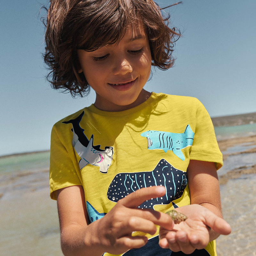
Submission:
M 217 239 L 218 256 L 256 256 L 256 136 L 219 141 L 219 147 L 224 167 L 238 168 L 218 171 L 223 217 L 232 228 Z

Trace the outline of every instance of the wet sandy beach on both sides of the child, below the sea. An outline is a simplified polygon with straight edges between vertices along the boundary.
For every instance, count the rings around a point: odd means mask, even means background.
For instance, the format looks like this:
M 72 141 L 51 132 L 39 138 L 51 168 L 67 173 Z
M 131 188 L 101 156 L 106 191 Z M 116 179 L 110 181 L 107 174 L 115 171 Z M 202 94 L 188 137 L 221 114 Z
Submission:
M 219 146 L 223 216 L 232 233 L 217 239 L 218 256 L 256 255 L 256 136 L 221 140 Z M 0 174 L 0 255 L 62 255 L 48 173 L 45 168 Z

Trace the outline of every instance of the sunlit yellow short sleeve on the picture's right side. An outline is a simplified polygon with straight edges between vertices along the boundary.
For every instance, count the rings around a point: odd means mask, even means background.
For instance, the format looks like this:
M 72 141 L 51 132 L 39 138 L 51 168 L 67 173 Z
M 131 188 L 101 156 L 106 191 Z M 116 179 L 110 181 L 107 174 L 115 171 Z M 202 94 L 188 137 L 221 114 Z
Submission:
M 211 117 L 199 100 L 197 100 L 196 127 L 190 159 L 214 162 L 217 170 L 223 165 Z

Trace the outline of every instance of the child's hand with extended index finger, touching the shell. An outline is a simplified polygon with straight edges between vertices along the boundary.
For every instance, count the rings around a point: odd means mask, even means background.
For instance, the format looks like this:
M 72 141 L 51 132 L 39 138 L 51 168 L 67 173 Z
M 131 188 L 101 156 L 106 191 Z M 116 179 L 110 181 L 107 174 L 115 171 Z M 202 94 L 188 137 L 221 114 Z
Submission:
M 146 236 L 132 236 L 134 231 L 154 235 L 155 224 L 171 230 L 174 223 L 169 215 L 149 209 L 137 209 L 144 201 L 164 194 L 164 187 L 153 186 L 136 190 L 119 200 L 103 218 L 93 222 L 96 243 L 99 243 L 105 252 L 121 254 L 147 243 Z

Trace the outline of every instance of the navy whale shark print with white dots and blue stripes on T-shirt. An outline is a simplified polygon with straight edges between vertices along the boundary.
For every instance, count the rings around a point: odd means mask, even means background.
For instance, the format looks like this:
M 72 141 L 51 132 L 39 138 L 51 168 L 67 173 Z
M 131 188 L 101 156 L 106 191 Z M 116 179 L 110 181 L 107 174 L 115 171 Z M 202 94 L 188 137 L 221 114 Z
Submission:
M 153 209 L 156 204 L 170 204 L 183 195 L 187 186 L 186 172 L 174 168 L 166 160 L 161 159 L 153 171 L 118 173 L 108 188 L 108 199 L 117 202 L 133 191 L 150 186 L 164 186 L 166 194 L 151 198 L 140 204 L 138 208 Z

